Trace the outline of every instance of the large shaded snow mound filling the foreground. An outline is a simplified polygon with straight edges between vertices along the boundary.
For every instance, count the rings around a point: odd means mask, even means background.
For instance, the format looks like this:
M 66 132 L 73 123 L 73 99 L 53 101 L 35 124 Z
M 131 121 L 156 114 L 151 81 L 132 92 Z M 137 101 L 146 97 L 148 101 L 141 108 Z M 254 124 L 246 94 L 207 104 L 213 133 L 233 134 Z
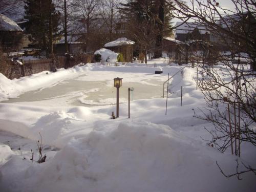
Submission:
M 242 190 L 233 182 L 236 178 L 220 178 L 212 158 L 221 153 L 212 151 L 166 125 L 130 121 L 72 139 L 40 165 L 13 158 L 1 168 L 0 186 L 4 191 L 38 192 L 84 187 L 88 191 Z

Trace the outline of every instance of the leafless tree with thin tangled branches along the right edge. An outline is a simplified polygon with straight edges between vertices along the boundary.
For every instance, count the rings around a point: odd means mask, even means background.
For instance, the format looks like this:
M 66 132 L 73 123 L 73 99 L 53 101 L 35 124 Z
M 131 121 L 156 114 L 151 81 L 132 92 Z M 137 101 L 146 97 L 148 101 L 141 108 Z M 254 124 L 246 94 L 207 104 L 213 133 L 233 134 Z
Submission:
M 213 130 L 207 129 L 211 146 L 221 152 L 230 148 L 240 157 L 241 142 L 256 146 L 255 1 L 231 0 L 233 11 L 210 0 L 190 0 L 190 6 L 174 2 L 175 17 L 193 19 L 211 34 L 210 42 L 201 43 L 203 54 L 193 55 L 201 67 L 199 88 L 207 104 L 200 109 L 204 115 L 195 116 L 214 124 Z M 255 172 L 248 165 L 244 168 Z M 240 176 L 247 170 L 231 175 Z

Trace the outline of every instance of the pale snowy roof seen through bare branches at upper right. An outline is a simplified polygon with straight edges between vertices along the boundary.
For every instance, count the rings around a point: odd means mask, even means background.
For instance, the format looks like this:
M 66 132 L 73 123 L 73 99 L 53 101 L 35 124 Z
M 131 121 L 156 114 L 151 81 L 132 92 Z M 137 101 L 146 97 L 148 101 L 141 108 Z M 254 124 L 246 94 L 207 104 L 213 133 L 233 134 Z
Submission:
M 181 25 L 183 22 L 177 22 L 176 26 Z M 176 34 L 185 34 L 192 32 L 195 28 L 198 28 L 201 34 L 205 34 L 206 32 L 209 33 L 209 31 L 206 30 L 206 28 L 202 25 L 196 24 L 194 22 L 187 22 L 176 28 Z

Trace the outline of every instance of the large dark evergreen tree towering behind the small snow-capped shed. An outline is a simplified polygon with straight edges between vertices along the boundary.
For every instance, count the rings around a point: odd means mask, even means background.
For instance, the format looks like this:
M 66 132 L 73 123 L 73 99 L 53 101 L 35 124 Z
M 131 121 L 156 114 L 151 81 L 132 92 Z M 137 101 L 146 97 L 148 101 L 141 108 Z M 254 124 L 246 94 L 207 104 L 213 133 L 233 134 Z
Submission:
M 136 41 L 143 51 L 152 50 L 155 57 L 162 53 L 162 39 L 172 32 L 170 26 L 170 5 L 163 0 L 130 0 L 121 4 L 121 12 L 125 15 L 129 28 L 133 31 L 133 40 Z M 135 28 L 134 30 L 132 30 Z M 137 31 L 137 33 L 136 33 Z M 143 41 L 143 42 L 142 42 Z M 146 47 L 146 48 L 145 48 Z M 145 53 L 144 53 L 145 54 Z

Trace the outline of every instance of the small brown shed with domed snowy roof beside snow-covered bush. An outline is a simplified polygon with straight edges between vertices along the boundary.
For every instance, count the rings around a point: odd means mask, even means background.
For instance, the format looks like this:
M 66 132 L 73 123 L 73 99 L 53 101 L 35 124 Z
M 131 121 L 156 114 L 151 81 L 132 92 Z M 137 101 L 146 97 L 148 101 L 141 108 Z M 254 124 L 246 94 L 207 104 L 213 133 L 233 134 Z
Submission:
M 116 53 L 122 53 L 124 62 L 133 62 L 133 45 L 134 44 L 135 44 L 134 41 L 129 40 L 125 37 L 122 37 L 106 43 L 104 47 Z

